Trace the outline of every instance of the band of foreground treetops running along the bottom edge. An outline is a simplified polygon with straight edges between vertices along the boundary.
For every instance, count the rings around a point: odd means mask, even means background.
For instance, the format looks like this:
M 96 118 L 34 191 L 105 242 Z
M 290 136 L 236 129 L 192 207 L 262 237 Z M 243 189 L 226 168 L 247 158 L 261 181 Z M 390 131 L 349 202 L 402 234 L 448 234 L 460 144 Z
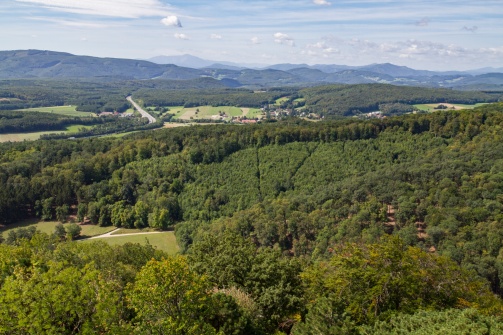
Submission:
M 2 334 L 407 333 L 424 313 L 453 315 L 449 330 L 501 328 L 486 282 L 394 237 L 341 244 L 317 262 L 229 232 L 188 258 L 41 233 L 17 242 L 0 245 Z

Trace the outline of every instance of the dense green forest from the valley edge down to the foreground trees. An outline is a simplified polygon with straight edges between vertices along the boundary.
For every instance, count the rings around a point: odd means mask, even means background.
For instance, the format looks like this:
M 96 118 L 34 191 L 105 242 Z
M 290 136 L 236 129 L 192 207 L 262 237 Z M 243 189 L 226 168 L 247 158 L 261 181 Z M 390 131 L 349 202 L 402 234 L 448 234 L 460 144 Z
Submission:
M 174 226 L 184 255 L 12 236 L 0 333 L 499 334 L 502 127 L 499 103 L 2 144 L 2 223 Z

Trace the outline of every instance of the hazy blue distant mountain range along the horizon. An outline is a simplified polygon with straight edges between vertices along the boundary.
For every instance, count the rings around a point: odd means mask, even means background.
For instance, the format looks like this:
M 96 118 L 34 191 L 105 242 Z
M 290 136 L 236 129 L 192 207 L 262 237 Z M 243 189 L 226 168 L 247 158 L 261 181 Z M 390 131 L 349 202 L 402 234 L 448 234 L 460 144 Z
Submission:
M 159 56 L 147 61 L 76 56 L 43 50 L 0 51 L 0 79 L 188 80 L 202 77 L 213 78 L 228 87 L 387 83 L 463 90 L 503 90 L 503 68 L 435 72 L 389 63 L 359 67 L 335 64 L 262 66 L 213 62 L 191 55 Z

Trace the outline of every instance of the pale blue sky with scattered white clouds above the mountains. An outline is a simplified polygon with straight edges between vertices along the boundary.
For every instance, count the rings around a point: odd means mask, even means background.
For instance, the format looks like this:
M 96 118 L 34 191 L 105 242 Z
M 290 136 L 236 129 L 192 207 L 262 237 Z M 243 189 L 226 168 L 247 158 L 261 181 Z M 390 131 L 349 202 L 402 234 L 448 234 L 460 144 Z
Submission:
M 264 65 L 503 67 L 503 0 L 1 0 L 0 49 Z

